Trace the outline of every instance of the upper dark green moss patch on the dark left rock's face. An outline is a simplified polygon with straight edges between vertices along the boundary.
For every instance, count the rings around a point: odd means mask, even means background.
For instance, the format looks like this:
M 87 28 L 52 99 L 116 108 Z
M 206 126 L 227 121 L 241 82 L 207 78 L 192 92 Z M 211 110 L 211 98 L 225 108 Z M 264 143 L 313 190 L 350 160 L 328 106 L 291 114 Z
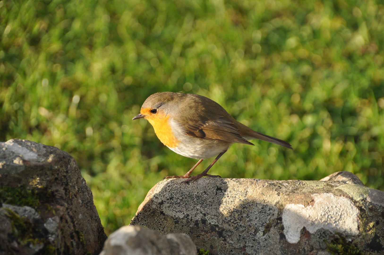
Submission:
M 11 205 L 26 205 L 35 209 L 40 205 L 39 196 L 35 189 L 26 190 L 8 186 L 0 187 L 0 202 Z

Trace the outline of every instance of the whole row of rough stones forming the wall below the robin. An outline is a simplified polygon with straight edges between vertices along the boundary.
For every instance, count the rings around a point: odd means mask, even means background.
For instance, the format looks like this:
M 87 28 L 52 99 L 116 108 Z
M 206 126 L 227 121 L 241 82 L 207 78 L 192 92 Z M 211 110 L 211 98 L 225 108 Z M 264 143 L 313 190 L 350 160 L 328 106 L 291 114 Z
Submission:
M 156 184 L 103 254 L 384 254 L 384 192 L 349 172 L 182 181 Z M 97 255 L 106 240 L 76 162 L 56 147 L 0 142 L 0 203 L 0 255 Z

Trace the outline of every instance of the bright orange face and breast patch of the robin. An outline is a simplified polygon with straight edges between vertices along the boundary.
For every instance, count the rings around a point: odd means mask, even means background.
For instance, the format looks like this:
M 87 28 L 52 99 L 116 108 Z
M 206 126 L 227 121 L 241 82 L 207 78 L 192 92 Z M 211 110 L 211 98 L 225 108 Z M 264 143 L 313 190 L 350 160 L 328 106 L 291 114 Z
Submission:
M 155 134 L 159 137 L 160 141 L 170 148 L 174 148 L 180 142 L 173 135 L 172 128 L 168 123 L 169 115 L 167 116 L 163 111 L 159 110 L 156 114 L 152 114 L 151 109 L 141 109 L 140 113 L 146 115 L 146 119 L 151 123 Z

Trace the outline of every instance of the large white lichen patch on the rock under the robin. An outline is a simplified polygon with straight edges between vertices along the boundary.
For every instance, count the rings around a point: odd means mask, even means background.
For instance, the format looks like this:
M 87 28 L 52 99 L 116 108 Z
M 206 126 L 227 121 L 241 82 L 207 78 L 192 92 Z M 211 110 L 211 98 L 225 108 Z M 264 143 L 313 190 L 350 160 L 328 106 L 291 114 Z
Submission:
M 288 204 L 283 210 L 283 225 L 286 240 L 297 243 L 303 227 L 310 233 L 327 229 L 344 235 L 358 235 L 359 210 L 345 197 L 331 193 L 313 194 L 314 204 Z

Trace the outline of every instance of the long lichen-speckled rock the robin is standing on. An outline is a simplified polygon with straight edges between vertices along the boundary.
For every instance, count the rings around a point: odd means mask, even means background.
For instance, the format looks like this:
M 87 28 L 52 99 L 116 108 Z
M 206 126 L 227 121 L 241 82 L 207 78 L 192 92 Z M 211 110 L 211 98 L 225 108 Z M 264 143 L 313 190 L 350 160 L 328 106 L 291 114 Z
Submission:
M 214 255 L 326 255 L 341 247 L 384 254 L 384 192 L 345 172 L 335 176 L 338 181 L 169 179 L 148 192 L 131 225 L 186 233 Z

